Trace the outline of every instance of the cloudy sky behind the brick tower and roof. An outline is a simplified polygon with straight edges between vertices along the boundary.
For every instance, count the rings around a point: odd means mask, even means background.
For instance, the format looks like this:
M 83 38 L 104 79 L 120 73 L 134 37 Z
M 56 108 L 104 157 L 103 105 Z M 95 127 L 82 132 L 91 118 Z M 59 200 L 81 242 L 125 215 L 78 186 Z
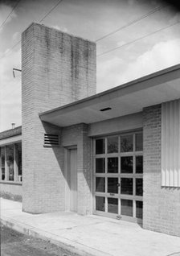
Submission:
M 0 131 L 22 124 L 21 34 L 58 2 L 0 0 Z M 180 13 L 165 1 L 63 0 L 41 23 L 96 42 L 97 93 L 180 64 Z

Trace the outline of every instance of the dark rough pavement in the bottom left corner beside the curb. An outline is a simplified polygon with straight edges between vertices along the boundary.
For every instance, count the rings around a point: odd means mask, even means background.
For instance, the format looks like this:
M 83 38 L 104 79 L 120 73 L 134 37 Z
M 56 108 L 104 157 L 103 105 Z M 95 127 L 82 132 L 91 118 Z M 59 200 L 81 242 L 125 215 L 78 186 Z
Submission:
M 39 238 L 18 233 L 1 225 L 2 256 L 80 256 Z

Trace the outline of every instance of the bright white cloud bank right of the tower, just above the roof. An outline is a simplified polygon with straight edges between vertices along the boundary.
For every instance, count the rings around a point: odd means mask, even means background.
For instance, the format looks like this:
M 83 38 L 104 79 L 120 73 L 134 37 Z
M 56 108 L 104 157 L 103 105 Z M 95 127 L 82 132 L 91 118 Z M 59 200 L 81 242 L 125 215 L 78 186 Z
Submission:
M 116 57 L 97 64 L 97 91 L 104 91 L 180 63 L 180 39 L 156 43 L 131 64 Z M 122 71 L 123 70 L 123 71 Z

